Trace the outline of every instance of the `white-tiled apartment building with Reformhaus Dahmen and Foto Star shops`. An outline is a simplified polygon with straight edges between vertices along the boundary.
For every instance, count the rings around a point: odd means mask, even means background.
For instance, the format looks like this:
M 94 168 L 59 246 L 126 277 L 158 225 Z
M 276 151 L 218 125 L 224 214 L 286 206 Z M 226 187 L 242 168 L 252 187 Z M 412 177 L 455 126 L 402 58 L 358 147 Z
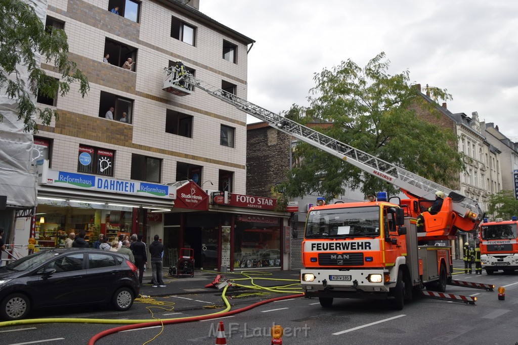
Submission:
M 40 247 L 60 246 L 70 232 L 91 241 L 159 234 L 166 264 L 188 247 L 197 267 L 281 266 L 289 214 L 246 195 L 246 113 L 200 89 L 163 90 L 164 69 L 180 60 L 196 78 L 247 97 L 254 40 L 198 9 L 199 1 L 48 2 L 46 25 L 67 33 L 90 91 L 81 98 L 72 85 L 66 97 L 38 97 L 60 115 L 34 138 Z

